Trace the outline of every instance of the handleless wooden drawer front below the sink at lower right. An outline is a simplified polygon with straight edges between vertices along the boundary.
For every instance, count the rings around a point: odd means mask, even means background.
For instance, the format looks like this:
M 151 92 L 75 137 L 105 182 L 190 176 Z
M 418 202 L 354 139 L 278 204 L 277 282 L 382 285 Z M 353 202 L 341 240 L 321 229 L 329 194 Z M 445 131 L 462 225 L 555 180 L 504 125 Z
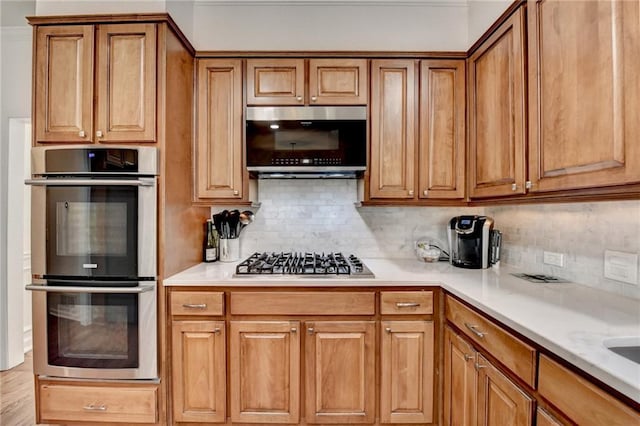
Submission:
M 544 355 L 540 355 L 538 391 L 579 425 L 640 424 L 636 411 Z

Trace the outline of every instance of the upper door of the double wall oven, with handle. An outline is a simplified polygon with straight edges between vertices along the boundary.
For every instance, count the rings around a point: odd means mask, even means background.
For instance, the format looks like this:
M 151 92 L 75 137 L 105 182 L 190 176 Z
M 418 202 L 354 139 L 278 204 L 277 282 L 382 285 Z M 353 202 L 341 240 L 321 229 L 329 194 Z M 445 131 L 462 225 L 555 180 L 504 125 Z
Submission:
M 32 188 L 32 273 L 155 279 L 156 178 L 40 178 Z

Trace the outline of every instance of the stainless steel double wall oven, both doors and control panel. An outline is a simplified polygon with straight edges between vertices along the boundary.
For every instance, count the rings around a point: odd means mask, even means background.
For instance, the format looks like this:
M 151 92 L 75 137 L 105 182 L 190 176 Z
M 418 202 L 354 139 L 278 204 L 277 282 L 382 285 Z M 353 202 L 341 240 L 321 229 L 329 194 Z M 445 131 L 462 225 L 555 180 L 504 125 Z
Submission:
M 36 374 L 157 378 L 153 147 L 32 149 Z

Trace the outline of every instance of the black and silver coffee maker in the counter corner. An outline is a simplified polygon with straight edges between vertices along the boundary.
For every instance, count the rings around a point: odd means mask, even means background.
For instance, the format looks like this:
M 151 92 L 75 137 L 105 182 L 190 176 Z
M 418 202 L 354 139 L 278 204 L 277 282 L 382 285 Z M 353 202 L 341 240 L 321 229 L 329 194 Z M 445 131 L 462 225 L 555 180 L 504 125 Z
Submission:
M 488 268 L 500 260 L 502 234 L 488 216 L 456 216 L 449 221 L 450 262 L 459 268 Z

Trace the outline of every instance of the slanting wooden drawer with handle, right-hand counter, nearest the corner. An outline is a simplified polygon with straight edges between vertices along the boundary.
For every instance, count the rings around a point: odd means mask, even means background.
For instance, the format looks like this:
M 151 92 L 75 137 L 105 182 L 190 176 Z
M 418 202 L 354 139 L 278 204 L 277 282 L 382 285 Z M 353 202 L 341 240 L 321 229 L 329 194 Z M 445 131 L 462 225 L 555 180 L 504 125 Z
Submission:
M 447 320 L 478 346 L 488 351 L 532 388 L 535 386 L 536 350 L 493 321 L 454 298 L 445 300 Z

